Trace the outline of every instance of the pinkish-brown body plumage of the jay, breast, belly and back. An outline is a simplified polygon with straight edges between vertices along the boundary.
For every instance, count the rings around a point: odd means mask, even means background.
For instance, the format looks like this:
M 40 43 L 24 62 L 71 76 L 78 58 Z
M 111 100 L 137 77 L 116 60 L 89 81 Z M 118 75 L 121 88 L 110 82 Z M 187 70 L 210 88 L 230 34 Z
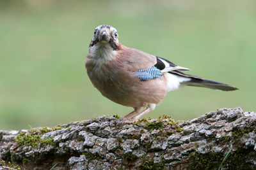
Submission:
M 165 76 L 141 81 L 133 73 L 156 64 L 156 57 L 140 50 L 122 46 L 116 57 L 96 66 L 90 55 L 86 69 L 93 85 L 101 94 L 115 103 L 129 107 L 142 107 L 160 103 L 167 93 Z

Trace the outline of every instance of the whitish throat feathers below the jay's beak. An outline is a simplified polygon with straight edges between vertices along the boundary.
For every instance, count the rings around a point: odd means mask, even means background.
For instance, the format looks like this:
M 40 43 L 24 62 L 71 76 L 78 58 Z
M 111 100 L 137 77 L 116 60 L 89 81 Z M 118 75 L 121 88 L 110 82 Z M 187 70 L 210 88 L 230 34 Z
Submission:
M 99 42 L 94 46 L 90 47 L 90 55 L 95 60 L 95 63 L 101 65 L 109 60 L 115 58 L 116 51 L 109 45 L 108 42 Z

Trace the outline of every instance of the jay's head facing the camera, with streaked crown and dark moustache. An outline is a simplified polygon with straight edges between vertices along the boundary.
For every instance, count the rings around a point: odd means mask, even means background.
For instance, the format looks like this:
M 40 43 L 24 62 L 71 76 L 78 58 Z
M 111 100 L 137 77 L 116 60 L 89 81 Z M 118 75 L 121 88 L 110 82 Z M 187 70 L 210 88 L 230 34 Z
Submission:
M 113 50 L 118 50 L 120 48 L 120 43 L 118 41 L 116 29 L 110 25 L 100 25 L 99 27 L 96 27 L 90 47 L 97 45 L 97 43 L 109 43 Z

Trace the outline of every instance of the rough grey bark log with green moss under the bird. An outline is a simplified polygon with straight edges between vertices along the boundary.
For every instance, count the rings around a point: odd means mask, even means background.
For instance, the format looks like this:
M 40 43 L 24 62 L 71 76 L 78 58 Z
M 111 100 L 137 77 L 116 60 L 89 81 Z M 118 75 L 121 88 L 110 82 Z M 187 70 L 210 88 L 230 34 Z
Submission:
M 0 131 L 0 169 L 218 169 L 228 151 L 221 169 L 256 169 L 255 126 L 255 113 L 223 108 L 179 123 L 99 117 Z

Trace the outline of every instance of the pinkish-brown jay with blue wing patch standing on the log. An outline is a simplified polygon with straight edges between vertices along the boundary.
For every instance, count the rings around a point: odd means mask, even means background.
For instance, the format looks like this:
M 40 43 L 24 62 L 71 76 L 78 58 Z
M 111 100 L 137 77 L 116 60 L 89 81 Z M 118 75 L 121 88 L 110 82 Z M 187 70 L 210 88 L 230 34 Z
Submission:
M 131 123 L 154 110 L 168 92 L 180 87 L 237 90 L 225 83 L 185 74 L 182 71 L 189 71 L 186 67 L 122 45 L 115 27 L 110 25 L 95 28 L 85 67 L 102 96 L 134 108 L 121 119 Z

